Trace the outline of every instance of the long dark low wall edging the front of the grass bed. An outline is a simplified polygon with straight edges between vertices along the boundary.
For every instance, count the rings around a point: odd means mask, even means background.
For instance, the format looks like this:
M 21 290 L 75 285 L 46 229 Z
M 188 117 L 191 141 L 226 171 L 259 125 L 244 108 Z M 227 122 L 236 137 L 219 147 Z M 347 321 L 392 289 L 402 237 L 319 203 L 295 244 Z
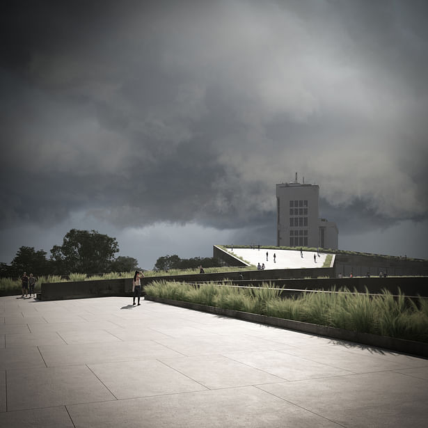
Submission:
M 248 312 L 240 312 L 239 310 L 215 308 L 214 306 L 204 306 L 197 303 L 188 303 L 175 301 L 170 299 L 161 299 L 159 297 L 145 296 L 145 300 L 166 303 L 168 305 L 180 306 L 181 308 L 200 310 L 216 315 L 226 317 L 234 317 L 244 319 L 245 321 L 257 322 L 258 324 L 267 324 L 288 330 L 301 331 L 315 335 L 326 336 L 338 340 L 347 340 L 349 342 L 357 342 L 367 344 L 372 347 L 390 349 L 392 351 L 403 352 L 415 356 L 428 357 L 428 344 L 422 342 L 413 342 L 411 340 L 388 338 L 385 336 L 374 335 L 370 333 L 357 333 L 356 331 L 344 330 L 343 328 L 333 328 L 319 326 L 318 324 L 310 324 L 306 322 L 293 321 L 291 319 L 266 317 L 264 315 L 251 314 Z

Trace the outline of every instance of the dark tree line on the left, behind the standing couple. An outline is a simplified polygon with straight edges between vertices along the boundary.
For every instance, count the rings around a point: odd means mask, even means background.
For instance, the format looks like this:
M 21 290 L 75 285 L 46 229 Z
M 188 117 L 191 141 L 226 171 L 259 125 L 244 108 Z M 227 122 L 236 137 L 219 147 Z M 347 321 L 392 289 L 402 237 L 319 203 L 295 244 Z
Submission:
M 47 258 L 46 251 L 22 246 L 11 264 L 0 263 L 0 276 L 13 278 L 21 276 L 24 271 L 35 276 L 104 274 L 133 271 L 138 265 L 134 257 L 115 257 L 119 252 L 116 238 L 96 230 L 72 229 L 65 235 L 63 244 L 55 245 L 50 252 Z

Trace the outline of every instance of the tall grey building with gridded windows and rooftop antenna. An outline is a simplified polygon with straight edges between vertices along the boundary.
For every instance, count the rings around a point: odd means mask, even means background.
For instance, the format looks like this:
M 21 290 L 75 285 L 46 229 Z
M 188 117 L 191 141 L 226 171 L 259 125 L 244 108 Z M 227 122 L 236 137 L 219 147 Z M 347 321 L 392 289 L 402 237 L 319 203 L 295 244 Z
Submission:
M 278 246 L 338 248 L 338 227 L 319 219 L 319 186 L 296 180 L 276 184 Z

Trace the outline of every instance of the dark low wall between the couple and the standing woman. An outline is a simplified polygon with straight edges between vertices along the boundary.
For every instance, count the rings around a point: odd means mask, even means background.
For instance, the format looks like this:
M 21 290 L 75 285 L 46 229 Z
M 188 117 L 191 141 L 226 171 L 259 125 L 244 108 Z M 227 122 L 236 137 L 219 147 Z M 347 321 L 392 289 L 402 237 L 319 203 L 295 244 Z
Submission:
M 69 283 L 42 283 L 41 290 L 41 300 L 129 296 L 132 293 L 132 278 L 87 280 Z

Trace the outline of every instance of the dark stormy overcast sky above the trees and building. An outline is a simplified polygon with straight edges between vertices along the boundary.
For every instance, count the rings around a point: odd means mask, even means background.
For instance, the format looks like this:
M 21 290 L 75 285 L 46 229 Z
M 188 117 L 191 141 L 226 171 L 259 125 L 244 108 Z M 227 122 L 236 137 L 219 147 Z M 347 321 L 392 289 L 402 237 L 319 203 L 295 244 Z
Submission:
M 428 258 L 427 1 L 9 3 L 0 262 L 71 228 L 145 268 L 274 245 L 296 172 L 341 249 Z

